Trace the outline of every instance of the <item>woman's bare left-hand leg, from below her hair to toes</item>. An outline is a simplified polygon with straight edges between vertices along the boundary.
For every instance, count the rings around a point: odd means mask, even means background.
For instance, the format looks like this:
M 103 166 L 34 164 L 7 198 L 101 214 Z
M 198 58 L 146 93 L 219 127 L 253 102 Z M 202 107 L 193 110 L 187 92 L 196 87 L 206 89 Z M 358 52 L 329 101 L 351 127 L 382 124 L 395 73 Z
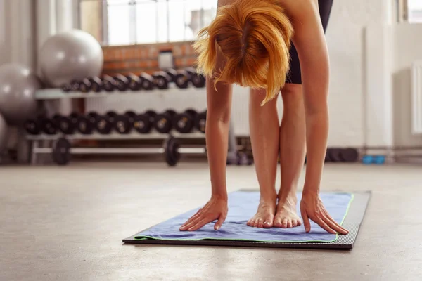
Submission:
M 253 159 L 260 184 L 260 204 L 248 226 L 271 228 L 276 213 L 276 174 L 279 157 L 279 116 L 276 99 L 264 106 L 265 90 L 250 90 L 249 126 Z

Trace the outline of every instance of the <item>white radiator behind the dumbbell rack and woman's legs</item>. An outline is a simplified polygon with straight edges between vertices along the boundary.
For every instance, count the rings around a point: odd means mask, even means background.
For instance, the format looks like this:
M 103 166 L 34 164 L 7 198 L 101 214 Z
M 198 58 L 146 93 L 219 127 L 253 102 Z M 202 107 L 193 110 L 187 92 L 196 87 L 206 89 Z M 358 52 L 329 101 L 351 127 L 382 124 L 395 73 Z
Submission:
M 163 112 L 169 108 L 183 112 L 188 108 L 203 111 L 207 107 L 205 89 L 189 88 L 166 91 L 143 91 L 139 94 L 113 94 L 105 98 L 91 98 L 85 101 L 87 112 L 95 111 L 100 114 L 108 110 L 116 112 L 145 112 L 148 109 Z M 249 89 L 240 86 L 233 88 L 231 119 L 234 122 L 234 134 L 238 137 L 249 136 Z M 279 98 L 279 115 L 281 115 L 281 98 Z

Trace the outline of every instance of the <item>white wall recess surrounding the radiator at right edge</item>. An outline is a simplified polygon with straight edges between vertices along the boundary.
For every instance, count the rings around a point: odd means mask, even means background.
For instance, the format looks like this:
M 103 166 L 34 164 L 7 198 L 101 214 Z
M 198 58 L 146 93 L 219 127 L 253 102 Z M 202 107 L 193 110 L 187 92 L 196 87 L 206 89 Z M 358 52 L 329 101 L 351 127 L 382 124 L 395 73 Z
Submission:
M 422 147 L 422 136 L 411 134 L 411 63 L 422 60 L 422 24 L 400 24 L 394 30 L 395 145 Z

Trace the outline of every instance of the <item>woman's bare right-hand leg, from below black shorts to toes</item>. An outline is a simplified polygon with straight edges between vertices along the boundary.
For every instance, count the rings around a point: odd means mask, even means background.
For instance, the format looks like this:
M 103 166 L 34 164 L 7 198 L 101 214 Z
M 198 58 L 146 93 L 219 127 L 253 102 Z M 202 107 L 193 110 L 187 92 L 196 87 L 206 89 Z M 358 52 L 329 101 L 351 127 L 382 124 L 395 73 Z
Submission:
M 296 191 L 306 154 L 302 85 L 286 84 L 281 90 L 281 96 L 284 108 L 280 127 L 281 187 L 274 226 L 291 228 L 301 224 L 296 212 Z

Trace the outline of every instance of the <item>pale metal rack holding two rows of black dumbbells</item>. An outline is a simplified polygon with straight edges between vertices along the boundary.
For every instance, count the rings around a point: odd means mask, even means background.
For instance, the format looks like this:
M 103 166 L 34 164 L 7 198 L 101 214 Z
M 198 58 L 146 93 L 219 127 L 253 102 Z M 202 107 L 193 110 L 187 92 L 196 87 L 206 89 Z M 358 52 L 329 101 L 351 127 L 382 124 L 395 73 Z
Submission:
M 172 94 L 177 94 L 177 91 L 196 91 L 193 94 L 200 94 L 203 93 L 204 89 L 177 89 L 172 88 L 168 90 L 152 90 L 148 91 L 151 93 L 153 91 L 157 91 L 157 93 L 165 93 L 166 91 L 171 91 Z M 108 96 L 127 96 L 127 95 L 141 95 L 143 93 L 137 91 L 115 91 L 115 92 L 101 92 L 101 93 L 81 93 L 81 92 L 63 92 L 61 89 L 44 89 L 39 90 L 36 93 L 37 100 L 60 100 L 66 98 L 104 98 Z M 234 135 L 233 131 L 233 123 L 230 124 L 230 131 L 229 131 L 229 153 L 228 153 L 228 161 L 229 159 L 235 159 L 238 155 L 237 148 L 236 148 L 236 136 Z M 167 139 L 170 138 L 205 138 L 205 133 L 194 131 L 192 133 L 179 133 L 177 131 L 170 131 L 170 133 L 158 133 L 154 129 L 150 133 L 141 134 L 141 133 L 128 133 L 128 134 L 120 134 L 120 133 L 110 133 L 107 135 L 93 133 L 89 135 L 83 135 L 81 133 L 75 133 L 72 135 L 63 135 L 62 133 L 55 134 L 55 135 L 27 135 L 27 141 L 31 143 L 31 164 L 37 164 L 38 162 L 38 155 L 41 154 L 51 154 L 53 153 L 53 143 L 54 141 L 58 140 L 58 138 L 65 138 L 68 141 L 75 141 L 75 140 L 145 140 L 145 139 L 155 139 L 155 140 L 163 140 L 163 143 Z M 70 153 L 79 154 L 79 155 L 122 155 L 122 154 L 155 154 L 155 153 L 162 153 L 165 152 L 165 148 L 72 148 Z M 181 154 L 201 154 L 205 153 L 205 148 L 179 148 L 179 152 Z

